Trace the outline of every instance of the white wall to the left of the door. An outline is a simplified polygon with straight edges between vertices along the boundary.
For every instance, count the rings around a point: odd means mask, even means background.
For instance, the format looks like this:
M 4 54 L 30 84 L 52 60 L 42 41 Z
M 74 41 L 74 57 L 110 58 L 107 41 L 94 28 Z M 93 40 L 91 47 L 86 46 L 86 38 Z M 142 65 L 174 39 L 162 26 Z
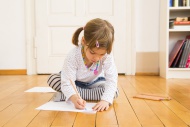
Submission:
M 24 0 L 0 0 L 0 69 L 26 69 Z

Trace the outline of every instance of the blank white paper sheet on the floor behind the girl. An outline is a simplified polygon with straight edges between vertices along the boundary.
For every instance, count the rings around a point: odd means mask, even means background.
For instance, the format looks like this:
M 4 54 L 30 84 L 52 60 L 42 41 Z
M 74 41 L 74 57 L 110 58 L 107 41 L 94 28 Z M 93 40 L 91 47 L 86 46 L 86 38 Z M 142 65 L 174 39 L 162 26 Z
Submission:
M 56 92 L 51 87 L 33 87 L 29 90 L 26 90 L 24 92 L 43 92 L 43 93 L 49 93 L 49 92 Z

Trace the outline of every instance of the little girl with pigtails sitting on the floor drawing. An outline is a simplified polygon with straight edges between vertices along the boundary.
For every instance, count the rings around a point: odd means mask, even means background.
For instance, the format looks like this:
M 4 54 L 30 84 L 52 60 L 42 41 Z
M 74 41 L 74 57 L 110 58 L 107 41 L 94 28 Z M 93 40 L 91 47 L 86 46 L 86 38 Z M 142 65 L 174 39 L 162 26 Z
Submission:
M 84 36 L 79 44 L 82 30 Z M 49 86 L 59 91 L 56 95 L 60 98 L 58 101 L 70 100 L 77 109 L 84 109 L 85 100 L 99 100 L 93 110 L 109 108 L 118 95 L 118 73 L 111 54 L 113 41 L 113 26 L 99 18 L 90 20 L 75 31 L 72 43 L 76 47 L 66 57 L 61 76 L 60 73 L 52 74 L 48 79 Z M 77 96 L 70 80 L 75 81 L 82 99 Z

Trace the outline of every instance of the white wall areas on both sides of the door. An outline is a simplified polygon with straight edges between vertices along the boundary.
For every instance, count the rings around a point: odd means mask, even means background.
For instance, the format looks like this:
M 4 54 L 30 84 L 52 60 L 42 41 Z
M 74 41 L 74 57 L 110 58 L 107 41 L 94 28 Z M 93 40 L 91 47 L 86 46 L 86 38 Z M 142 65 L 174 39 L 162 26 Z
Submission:
M 134 0 L 137 52 L 159 51 L 159 0 Z M 0 70 L 26 69 L 25 0 L 0 1 Z

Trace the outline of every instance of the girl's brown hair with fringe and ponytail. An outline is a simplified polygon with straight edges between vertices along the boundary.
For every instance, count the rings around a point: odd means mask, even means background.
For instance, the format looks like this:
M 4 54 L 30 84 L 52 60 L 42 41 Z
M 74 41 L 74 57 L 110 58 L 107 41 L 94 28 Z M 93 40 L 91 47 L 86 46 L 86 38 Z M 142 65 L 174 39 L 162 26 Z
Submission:
M 111 53 L 114 41 L 114 28 L 108 21 L 96 18 L 90 20 L 84 28 L 78 28 L 72 38 L 72 43 L 76 46 L 78 46 L 78 37 L 82 30 L 84 30 L 85 44 L 88 48 L 95 48 L 98 41 L 99 48 L 105 48 L 108 54 Z

